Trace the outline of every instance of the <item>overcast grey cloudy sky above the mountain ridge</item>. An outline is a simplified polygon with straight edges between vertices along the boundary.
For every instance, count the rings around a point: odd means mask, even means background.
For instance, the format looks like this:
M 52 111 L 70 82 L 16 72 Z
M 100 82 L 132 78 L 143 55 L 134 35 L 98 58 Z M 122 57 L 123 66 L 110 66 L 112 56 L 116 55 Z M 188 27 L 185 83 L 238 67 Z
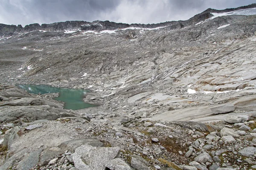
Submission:
M 55 23 L 109 20 L 160 23 L 187 20 L 207 8 L 236 8 L 256 0 L 0 0 L 0 23 Z

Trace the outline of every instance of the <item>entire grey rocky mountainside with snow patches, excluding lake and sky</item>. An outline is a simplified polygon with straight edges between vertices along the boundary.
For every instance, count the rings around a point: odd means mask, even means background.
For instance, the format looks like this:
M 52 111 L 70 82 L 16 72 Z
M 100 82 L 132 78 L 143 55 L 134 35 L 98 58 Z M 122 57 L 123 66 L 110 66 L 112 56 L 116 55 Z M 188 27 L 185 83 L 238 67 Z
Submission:
M 256 169 L 256 4 L 0 36 L 0 170 Z M 65 110 L 15 84 L 90 89 L 99 106 Z

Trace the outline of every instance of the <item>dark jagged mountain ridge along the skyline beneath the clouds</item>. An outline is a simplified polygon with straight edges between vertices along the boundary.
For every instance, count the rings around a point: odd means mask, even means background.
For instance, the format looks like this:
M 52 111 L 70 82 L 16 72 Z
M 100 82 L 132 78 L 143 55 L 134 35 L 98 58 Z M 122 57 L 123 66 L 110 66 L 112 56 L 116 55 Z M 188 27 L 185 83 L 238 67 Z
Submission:
M 126 24 L 126 23 L 115 23 L 111 21 L 65 21 L 65 22 L 57 22 L 57 23 L 50 23 L 50 24 L 38 24 L 33 23 L 22 27 L 21 25 L 6 25 L 0 23 L 0 36 L 12 36 L 13 34 L 24 33 L 27 31 L 35 31 L 35 30 L 43 30 L 43 31 L 64 31 L 67 29 L 77 29 L 78 31 L 104 31 L 104 30 L 117 30 L 122 28 L 157 28 L 163 26 L 173 26 L 177 25 L 179 28 L 184 28 L 191 24 L 199 23 L 206 19 L 212 17 L 212 13 L 221 13 L 221 12 L 230 12 L 236 11 L 240 9 L 247 9 L 247 8 L 255 8 L 256 3 L 250 4 L 248 6 L 241 6 L 238 8 L 227 8 L 224 10 L 216 10 L 212 8 L 208 8 L 207 10 L 201 12 L 200 14 L 196 14 L 194 17 L 189 18 L 189 20 L 179 20 L 179 21 L 167 21 L 164 23 L 153 23 L 153 24 L 140 24 L 140 23 L 133 23 L 133 24 Z

